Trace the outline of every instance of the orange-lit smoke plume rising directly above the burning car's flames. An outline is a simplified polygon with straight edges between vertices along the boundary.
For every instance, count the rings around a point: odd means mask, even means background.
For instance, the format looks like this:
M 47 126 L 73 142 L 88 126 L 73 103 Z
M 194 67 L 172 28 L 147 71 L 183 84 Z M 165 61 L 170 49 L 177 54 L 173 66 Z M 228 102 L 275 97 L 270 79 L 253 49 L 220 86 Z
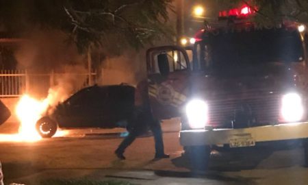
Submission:
M 56 106 L 87 80 L 87 58 L 68 44 L 68 36 L 56 30 L 34 29 L 16 49 L 18 69 L 26 69 L 29 77 L 28 94 L 38 99 L 47 97 Z

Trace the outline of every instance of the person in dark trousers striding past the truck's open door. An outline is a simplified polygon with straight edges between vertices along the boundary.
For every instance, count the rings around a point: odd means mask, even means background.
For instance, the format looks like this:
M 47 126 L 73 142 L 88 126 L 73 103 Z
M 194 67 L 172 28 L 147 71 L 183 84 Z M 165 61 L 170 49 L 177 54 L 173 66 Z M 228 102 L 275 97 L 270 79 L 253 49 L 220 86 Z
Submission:
M 151 130 L 155 141 L 154 158 L 169 158 L 169 155 L 164 153 L 164 141 L 162 138 L 162 127 L 160 121 L 155 119 L 151 112 L 151 106 L 149 106 L 146 82 L 138 84 L 136 88 L 135 105 L 133 114 L 127 120 L 127 130 L 129 131 L 129 135 L 124 138 L 114 153 L 120 160 L 125 160 L 123 154 L 125 149 L 129 147 L 138 136 Z

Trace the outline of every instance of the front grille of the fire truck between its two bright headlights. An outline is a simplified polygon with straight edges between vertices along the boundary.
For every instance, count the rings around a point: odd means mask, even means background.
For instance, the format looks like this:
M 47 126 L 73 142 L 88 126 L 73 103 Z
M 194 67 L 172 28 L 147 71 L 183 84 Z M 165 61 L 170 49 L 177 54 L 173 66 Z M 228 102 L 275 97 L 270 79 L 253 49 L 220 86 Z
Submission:
M 216 95 L 208 101 L 209 123 L 214 127 L 231 127 L 235 110 L 245 105 L 251 110 L 257 125 L 277 123 L 281 96 L 273 92 L 245 92 L 231 95 Z

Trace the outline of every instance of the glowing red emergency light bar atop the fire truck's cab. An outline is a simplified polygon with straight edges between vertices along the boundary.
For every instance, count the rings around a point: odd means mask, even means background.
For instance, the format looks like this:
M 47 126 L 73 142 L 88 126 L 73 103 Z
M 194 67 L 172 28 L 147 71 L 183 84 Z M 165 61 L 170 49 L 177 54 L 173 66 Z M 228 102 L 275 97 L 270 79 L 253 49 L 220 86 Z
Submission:
M 219 12 L 219 17 L 228 17 L 228 16 L 235 16 L 238 18 L 248 16 L 251 14 L 255 14 L 255 10 L 253 10 L 248 5 L 243 5 L 242 8 L 233 8 L 230 10 L 224 10 Z

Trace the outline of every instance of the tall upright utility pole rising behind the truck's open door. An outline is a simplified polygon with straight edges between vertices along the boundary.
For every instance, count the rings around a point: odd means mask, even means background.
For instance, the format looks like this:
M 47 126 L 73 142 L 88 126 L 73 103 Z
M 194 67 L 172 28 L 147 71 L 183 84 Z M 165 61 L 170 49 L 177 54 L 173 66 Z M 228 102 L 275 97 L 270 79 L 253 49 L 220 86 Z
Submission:
M 184 0 L 177 0 L 177 45 L 181 45 L 181 37 L 183 36 L 184 27 Z

